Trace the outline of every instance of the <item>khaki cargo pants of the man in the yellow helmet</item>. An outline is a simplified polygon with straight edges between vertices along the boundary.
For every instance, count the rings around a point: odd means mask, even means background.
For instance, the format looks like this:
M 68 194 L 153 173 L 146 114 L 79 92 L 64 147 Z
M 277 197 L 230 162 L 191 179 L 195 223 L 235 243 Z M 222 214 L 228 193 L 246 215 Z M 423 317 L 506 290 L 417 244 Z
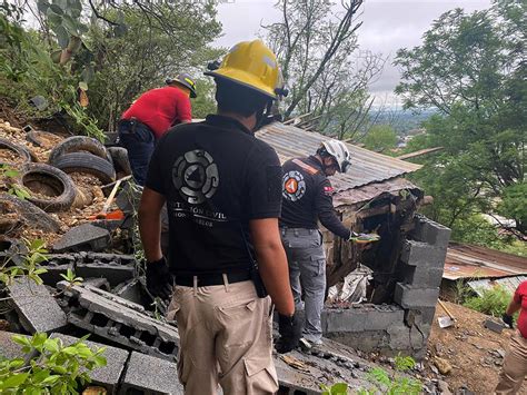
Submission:
M 274 394 L 272 310 L 252 282 L 176 286 L 168 318 L 180 336 L 178 375 L 187 395 Z

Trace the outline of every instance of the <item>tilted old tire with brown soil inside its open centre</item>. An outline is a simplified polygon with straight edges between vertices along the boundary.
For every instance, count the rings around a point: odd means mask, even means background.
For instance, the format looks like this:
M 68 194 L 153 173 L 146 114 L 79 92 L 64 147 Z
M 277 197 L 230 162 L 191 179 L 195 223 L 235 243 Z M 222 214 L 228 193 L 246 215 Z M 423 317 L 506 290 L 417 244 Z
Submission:
M 46 164 L 24 165 L 18 182 L 33 194 L 38 192 L 27 199 L 44 211 L 67 211 L 73 204 L 74 184 L 70 176 L 56 167 Z

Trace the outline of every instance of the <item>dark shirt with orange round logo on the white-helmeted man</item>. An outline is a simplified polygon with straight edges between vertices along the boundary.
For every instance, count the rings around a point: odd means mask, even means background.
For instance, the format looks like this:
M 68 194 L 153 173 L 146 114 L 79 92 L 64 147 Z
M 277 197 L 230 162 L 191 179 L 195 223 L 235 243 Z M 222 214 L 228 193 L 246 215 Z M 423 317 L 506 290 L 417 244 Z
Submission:
M 350 230 L 334 210 L 334 188 L 315 157 L 290 159 L 284 164 L 280 225 L 317 229 L 317 219 L 331 233 L 348 239 Z

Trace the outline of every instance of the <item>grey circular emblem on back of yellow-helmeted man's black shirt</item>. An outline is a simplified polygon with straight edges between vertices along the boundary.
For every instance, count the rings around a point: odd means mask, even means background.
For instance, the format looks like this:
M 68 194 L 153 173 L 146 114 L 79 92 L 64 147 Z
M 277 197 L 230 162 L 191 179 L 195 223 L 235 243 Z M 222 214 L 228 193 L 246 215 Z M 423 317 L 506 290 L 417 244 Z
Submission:
M 210 154 L 202 149 L 188 151 L 173 164 L 172 182 L 183 199 L 191 205 L 199 205 L 211 198 L 218 189 L 218 166 Z

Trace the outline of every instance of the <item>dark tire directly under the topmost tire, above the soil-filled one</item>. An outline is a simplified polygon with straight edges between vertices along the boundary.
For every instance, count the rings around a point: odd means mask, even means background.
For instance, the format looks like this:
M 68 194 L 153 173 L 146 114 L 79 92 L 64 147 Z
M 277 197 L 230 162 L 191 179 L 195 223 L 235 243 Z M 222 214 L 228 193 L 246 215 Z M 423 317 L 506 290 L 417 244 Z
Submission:
M 53 161 L 53 166 L 64 172 L 84 172 L 96 176 L 102 184 L 116 180 L 116 170 L 108 160 L 88 152 L 66 154 Z

